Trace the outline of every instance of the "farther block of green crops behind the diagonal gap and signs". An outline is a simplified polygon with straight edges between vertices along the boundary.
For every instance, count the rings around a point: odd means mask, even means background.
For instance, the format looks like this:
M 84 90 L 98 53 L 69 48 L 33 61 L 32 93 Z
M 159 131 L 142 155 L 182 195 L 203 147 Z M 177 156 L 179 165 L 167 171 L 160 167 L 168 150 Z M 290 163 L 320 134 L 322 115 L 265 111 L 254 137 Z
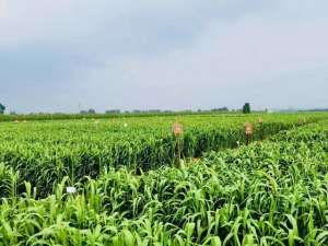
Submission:
M 199 115 L 181 117 L 112 118 L 0 124 L 0 163 L 19 171 L 16 192 L 23 181 L 46 197 L 65 176 L 71 183 L 84 176 L 96 178 L 104 167 L 128 167 L 147 172 L 172 165 L 176 139 L 172 124 L 179 121 L 185 133 L 183 157 L 200 157 L 203 152 L 236 148 L 245 142 L 244 124 L 255 126 L 258 140 L 260 116 Z M 263 115 L 265 136 L 314 122 L 325 114 Z

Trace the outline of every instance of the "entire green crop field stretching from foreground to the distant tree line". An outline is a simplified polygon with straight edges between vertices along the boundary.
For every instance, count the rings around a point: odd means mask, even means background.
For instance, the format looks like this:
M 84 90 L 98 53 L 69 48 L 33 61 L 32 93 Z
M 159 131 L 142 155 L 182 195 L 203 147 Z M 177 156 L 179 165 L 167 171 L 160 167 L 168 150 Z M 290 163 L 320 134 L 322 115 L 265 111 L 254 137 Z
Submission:
M 0 245 L 328 245 L 328 114 L 5 118 Z

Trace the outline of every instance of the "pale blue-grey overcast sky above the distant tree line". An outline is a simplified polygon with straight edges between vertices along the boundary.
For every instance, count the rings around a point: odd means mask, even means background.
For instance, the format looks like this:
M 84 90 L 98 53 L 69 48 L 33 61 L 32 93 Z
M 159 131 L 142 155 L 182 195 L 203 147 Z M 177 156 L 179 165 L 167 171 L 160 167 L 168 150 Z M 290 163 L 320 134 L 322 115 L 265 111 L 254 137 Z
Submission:
M 0 0 L 27 112 L 328 107 L 327 0 Z

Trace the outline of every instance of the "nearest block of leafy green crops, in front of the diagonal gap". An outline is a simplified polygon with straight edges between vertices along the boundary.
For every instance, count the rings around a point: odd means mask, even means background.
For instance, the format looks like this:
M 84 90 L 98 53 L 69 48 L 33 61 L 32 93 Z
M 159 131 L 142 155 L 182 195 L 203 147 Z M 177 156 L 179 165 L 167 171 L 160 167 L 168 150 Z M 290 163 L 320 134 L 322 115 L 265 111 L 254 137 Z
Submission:
M 66 177 L 45 199 L 28 181 L 16 196 L 2 164 L 0 245 L 328 245 L 327 171 L 327 120 L 180 168 L 108 166 L 72 194 Z

